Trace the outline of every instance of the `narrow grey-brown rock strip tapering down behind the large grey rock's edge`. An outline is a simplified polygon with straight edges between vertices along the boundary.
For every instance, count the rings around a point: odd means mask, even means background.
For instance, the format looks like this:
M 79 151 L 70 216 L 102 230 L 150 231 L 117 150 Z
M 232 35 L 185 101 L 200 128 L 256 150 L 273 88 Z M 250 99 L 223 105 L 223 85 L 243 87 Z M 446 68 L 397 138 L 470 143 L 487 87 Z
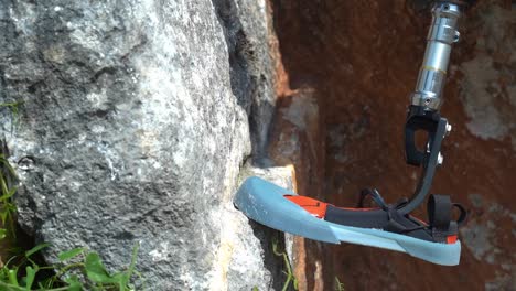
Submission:
M 271 35 L 266 1 L 248 3 L 234 0 L 212 0 L 229 54 L 233 94 L 249 118 L 254 161 L 267 155 L 267 137 L 272 119 L 276 95 L 275 72 L 269 52 Z

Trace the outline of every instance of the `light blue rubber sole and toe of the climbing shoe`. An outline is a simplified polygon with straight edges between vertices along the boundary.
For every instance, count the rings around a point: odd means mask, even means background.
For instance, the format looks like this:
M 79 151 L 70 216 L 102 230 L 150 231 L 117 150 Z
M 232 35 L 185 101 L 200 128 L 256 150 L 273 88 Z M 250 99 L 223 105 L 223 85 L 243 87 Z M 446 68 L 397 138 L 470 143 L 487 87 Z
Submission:
M 389 249 L 443 266 L 456 266 L 461 242 L 432 242 L 381 229 L 343 226 L 315 218 L 284 195 L 297 195 L 257 176 L 248 177 L 234 198 L 235 207 L 268 227 L 313 240 L 341 241 Z

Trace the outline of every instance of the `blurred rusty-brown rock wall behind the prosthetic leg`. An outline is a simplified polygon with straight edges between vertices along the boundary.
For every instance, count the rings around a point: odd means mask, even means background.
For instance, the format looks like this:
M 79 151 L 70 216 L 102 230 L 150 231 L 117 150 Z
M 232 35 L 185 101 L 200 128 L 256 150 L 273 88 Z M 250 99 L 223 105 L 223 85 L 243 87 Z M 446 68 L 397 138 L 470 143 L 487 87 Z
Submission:
M 410 197 L 402 130 L 431 22 L 427 1 L 273 0 L 279 65 L 270 152 L 299 192 L 354 206 L 374 186 Z M 465 205 L 458 267 L 344 244 L 295 241 L 301 290 L 516 290 L 516 3 L 477 1 L 461 19 L 442 116 L 453 126 L 432 193 Z M 426 217 L 424 209 L 418 212 Z

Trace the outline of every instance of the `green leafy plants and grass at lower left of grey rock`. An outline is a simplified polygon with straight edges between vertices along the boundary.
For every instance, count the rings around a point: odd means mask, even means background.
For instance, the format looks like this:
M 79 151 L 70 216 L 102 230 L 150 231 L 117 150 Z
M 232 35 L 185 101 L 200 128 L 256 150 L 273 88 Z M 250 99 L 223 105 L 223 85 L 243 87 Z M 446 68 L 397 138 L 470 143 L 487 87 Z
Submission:
M 13 117 L 18 117 L 18 104 L 0 104 L 9 107 Z M 2 149 L 0 149 L 2 150 Z M 0 153 L 0 244 L 17 242 L 17 206 L 13 195 L 17 193 L 18 177 L 4 153 Z M 9 241 L 9 244 L 6 244 Z M 136 270 L 139 246 L 136 245 L 129 266 L 121 271 L 109 272 L 100 256 L 86 248 L 75 248 L 61 252 L 58 262 L 47 266 L 39 263 L 37 255 L 49 244 L 41 244 L 26 251 L 11 250 L 6 262 L 0 261 L 0 291 L 127 291 L 144 289 L 144 280 Z M 6 254 L 3 254 L 6 255 Z

